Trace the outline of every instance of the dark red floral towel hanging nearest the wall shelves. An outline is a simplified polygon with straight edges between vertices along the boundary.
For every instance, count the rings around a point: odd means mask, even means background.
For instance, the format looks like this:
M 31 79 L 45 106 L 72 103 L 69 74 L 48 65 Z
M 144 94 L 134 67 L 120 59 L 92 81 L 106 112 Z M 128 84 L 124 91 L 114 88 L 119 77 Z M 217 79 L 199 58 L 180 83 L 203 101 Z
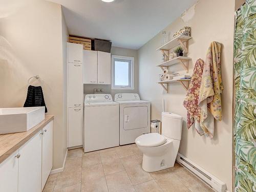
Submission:
M 183 106 L 187 110 L 187 128 L 189 129 L 189 127 L 194 123 L 195 118 L 196 130 L 200 135 L 204 135 L 204 132 L 201 131 L 202 129 L 200 127 L 201 108 L 198 105 L 203 69 L 204 61 L 202 59 L 198 59 L 194 67 L 193 75 L 191 76 L 191 81 L 189 83 L 187 95 L 183 102 Z

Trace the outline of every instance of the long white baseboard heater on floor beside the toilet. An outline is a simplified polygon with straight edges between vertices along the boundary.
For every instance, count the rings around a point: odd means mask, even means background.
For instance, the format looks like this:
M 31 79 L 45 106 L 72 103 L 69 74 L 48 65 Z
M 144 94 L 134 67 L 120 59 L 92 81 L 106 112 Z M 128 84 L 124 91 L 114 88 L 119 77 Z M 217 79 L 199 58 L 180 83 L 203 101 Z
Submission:
M 212 189 L 217 192 L 225 192 L 226 184 L 216 177 L 212 176 L 210 173 L 206 172 L 203 168 L 199 167 L 194 162 L 190 161 L 180 153 L 178 153 L 176 161 L 183 165 L 185 168 L 190 170 L 194 175 L 203 180 L 206 184 L 208 184 Z

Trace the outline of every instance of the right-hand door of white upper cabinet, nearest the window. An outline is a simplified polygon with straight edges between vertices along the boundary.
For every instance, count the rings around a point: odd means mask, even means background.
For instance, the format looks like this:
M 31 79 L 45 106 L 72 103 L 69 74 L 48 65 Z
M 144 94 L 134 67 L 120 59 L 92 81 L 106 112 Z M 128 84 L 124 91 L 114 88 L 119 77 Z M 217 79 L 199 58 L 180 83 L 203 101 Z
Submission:
M 98 84 L 111 84 L 111 56 L 110 53 L 98 51 Z

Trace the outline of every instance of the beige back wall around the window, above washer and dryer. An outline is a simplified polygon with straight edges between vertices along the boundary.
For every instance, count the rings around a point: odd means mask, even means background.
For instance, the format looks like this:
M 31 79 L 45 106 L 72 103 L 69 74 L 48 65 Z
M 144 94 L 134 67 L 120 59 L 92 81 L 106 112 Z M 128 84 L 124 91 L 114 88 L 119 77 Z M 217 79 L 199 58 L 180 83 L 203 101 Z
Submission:
M 84 84 L 83 92 L 84 94 L 92 94 L 94 89 L 103 89 L 104 93 L 109 93 L 112 97 L 115 96 L 116 93 L 138 93 L 138 78 L 139 78 L 139 65 L 138 65 L 138 50 L 134 49 L 125 49 L 119 47 L 111 48 L 112 55 L 121 55 L 126 57 L 134 57 L 134 90 L 111 90 L 111 85 L 92 85 L 92 84 Z

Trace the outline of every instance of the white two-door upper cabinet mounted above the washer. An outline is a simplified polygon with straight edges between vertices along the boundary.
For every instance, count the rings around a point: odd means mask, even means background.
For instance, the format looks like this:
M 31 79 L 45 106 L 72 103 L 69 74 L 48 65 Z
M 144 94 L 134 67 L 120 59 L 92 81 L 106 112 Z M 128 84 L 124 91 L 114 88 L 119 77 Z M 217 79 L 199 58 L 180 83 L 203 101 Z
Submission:
M 110 53 L 84 50 L 83 59 L 84 84 L 111 84 Z

